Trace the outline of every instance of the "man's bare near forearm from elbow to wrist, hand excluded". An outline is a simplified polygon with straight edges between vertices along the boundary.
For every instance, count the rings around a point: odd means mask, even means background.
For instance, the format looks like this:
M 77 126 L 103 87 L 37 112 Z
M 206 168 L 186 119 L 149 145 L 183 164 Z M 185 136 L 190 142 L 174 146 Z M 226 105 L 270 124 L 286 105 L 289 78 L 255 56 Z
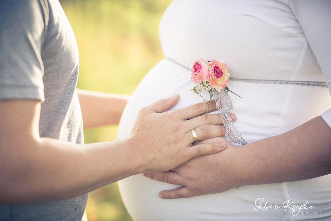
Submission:
M 130 140 L 86 145 L 40 138 L 0 165 L 0 203 L 75 197 L 143 172 Z M 16 162 L 14 165 L 11 162 Z

